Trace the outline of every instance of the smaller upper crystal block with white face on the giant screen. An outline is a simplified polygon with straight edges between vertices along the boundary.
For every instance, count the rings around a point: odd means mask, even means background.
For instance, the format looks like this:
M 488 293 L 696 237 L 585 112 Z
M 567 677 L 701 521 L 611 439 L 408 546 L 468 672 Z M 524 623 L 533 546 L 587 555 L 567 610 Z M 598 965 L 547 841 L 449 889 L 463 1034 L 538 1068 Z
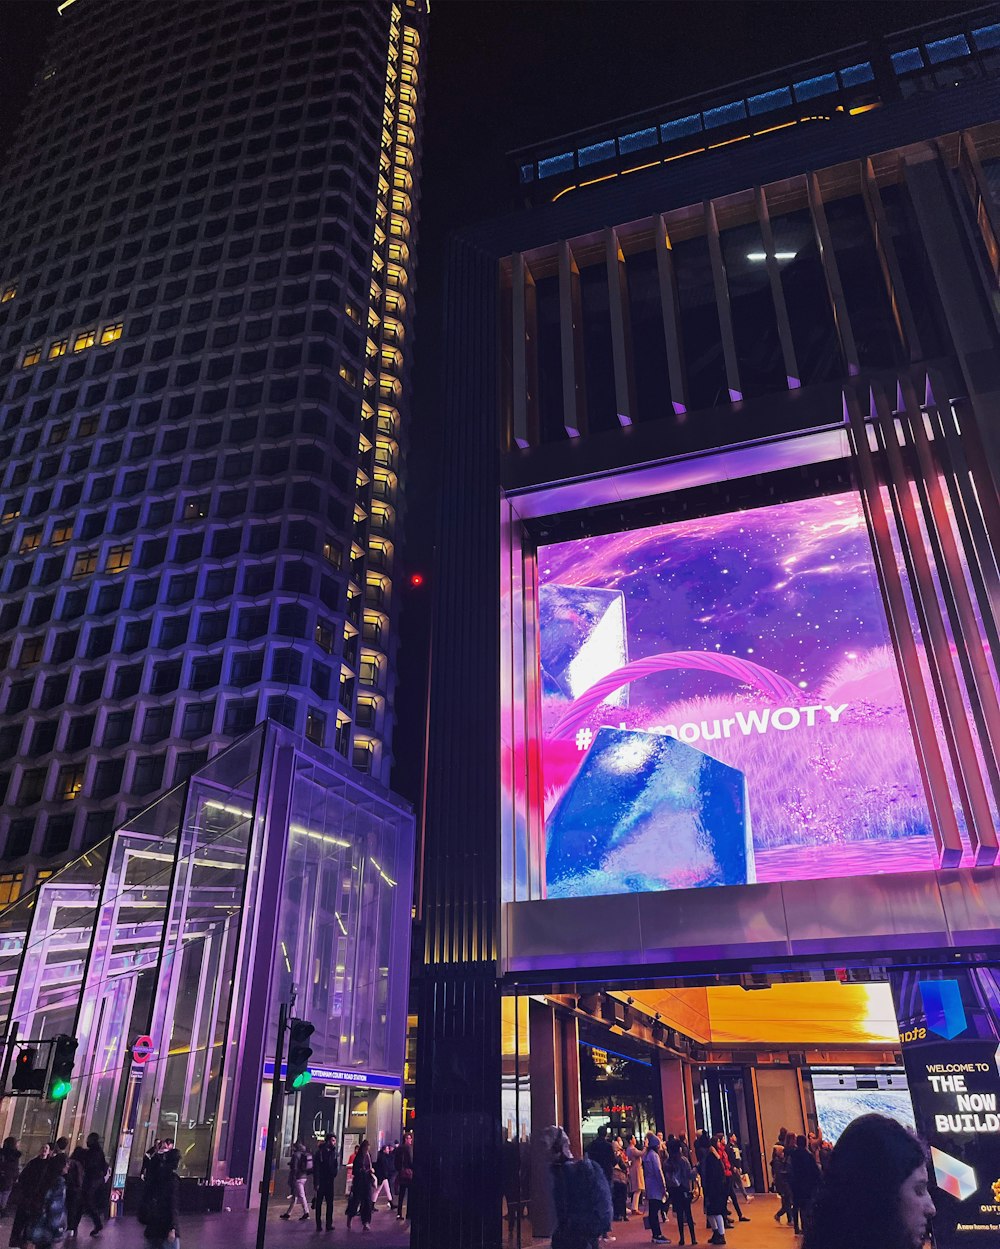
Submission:
M 578 698 L 584 689 L 628 663 L 625 596 L 589 586 L 542 586 L 538 633 L 544 693 Z M 604 699 L 628 706 L 628 686 Z

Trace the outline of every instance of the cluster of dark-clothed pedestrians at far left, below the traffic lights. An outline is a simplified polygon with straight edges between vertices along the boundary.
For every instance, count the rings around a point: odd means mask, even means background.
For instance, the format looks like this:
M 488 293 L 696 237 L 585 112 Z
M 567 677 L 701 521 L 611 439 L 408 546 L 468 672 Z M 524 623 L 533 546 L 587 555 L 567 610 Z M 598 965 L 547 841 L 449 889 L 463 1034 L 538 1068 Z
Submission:
M 104 1230 L 111 1169 L 101 1138 L 91 1133 L 86 1145 L 69 1149 L 69 1139 L 60 1137 L 21 1165 L 15 1137 L 0 1148 L 0 1217 L 12 1212 L 11 1249 L 50 1249 L 76 1237 L 84 1215 L 90 1219 L 91 1237 Z

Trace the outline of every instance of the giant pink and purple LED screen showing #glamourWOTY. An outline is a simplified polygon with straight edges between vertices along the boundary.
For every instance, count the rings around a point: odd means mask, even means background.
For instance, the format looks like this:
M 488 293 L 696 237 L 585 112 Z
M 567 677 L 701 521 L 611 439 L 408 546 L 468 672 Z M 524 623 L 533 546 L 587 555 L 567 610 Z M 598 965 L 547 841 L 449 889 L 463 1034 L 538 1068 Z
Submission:
M 860 501 L 543 546 L 544 891 L 938 866 Z

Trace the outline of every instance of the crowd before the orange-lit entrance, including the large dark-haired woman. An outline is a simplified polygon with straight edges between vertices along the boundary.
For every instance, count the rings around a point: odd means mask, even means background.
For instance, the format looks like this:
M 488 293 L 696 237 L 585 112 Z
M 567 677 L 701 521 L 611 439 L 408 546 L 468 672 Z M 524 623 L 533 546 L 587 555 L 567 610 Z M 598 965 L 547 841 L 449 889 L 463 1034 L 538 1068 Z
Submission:
M 645 1207 L 644 1225 L 653 1244 L 672 1210 L 679 1243 L 698 1244 L 692 1205 L 700 1194 L 708 1244 L 724 1245 L 737 1222 L 749 1223 L 740 1202 L 753 1200 L 735 1133 L 702 1132 L 685 1137 L 649 1132 L 642 1145 L 598 1129 L 583 1158 L 574 1158 L 566 1130 L 544 1135 L 556 1228 L 552 1249 L 600 1249 L 614 1240 L 615 1222 L 628 1222 Z M 774 1190 L 801 1249 L 921 1249 L 930 1234 L 934 1203 L 929 1194 L 923 1143 L 895 1119 L 868 1114 L 843 1132 L 836 1145 L 821 1132 L 800 1135 L 782 1128 L 772 1152 Z M 879 1183 L 873 1184 L 873 1168 Z M 730 1212 L 732 1205 L 732 1212 Z M 509 1199 L 508 1199 L 509 1214 Z

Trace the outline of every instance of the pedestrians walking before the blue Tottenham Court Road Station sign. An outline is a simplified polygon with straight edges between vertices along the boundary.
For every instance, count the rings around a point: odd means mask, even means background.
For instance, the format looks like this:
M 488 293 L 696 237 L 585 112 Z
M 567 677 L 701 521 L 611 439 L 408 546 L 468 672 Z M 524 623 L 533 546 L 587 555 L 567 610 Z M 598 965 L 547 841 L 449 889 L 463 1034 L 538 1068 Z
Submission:
M 413 1187 L 413 1135 L 407 1133 L 402 1142 L 382 1145 L 372 1158 L 371 1145 L 362 1140 L 347 1159 L 350 1183 L 347 1192 L 347 1230 L 355 1219 L 361 1220 L 362 1232 L 371 1232 L 372 1214 L 378 1209 L 380 1198 L 385 1198 L 386 1210 L 396 1210 L 396 1218 L 402 1222 L 409 1217 L 409 1193 Z M 302 1212 L 300 1222 L 311 1218 L 310 1208 L 316 1214 L 316 1230 L 326 1227 L 333 1229 L 333 1182 L 340 1172 L 340 1152 L 337 1138 L 331 1133 L 313 1152 L 297 1140 L 288 1154 L 288 1208 L 281 1215 L 291 1219 L 296 1207 Z M 312 1202 L 307 1197 L 307 1187 L 312 1180 Z M 323 1223 L 326 1212 L 326 1223 Z

